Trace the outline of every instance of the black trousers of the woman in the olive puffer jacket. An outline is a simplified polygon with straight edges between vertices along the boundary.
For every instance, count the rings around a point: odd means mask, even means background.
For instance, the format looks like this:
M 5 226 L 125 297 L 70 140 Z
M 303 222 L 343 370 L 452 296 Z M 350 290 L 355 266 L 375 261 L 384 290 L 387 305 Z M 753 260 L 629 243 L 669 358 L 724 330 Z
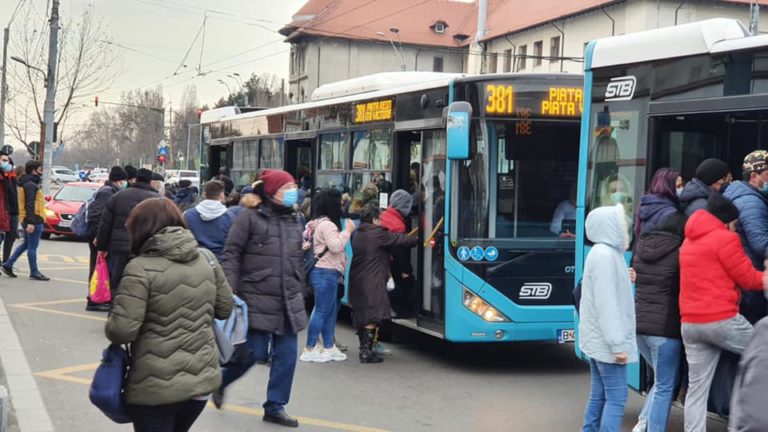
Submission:
M 128 405 L 135 432 L 187 432 L 207 401 L 188 400 L 167 405 Z

